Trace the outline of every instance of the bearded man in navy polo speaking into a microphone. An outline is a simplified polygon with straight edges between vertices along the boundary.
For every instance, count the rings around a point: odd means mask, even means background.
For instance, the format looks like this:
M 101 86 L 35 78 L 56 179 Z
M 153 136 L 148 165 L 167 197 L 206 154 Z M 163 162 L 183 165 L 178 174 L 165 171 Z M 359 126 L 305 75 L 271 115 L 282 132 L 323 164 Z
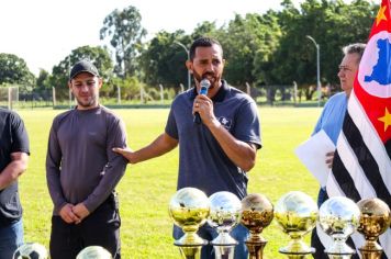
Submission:
M 243 199 L 247 195 L 247 171 L 256 161 L 261 147 L 257 106 L 244 92 L 222 79 L 225 60 L 215 40 L 201 37 L 190 47 L 186 65 L 193 75 L 196 87 L 179 94 L 171 104 L 165 132 L 153 143 L 133 151 L 114 148 L 131 164 L 161 156 L 179 144 L 179 174 L 177 189 L 192 187 L 208 196 L 228 191 Z M 201 87 L 206 88 L 202 94 Z M 205 224 L 198 233 L 212 240 L 216 232 Z M 175 227 L 176 239 L 183 235 Z M 235 258 L 247 258 L 244 244 L 248 235 L 244 226 L 233 229 L 239 241 Z M 201 258 L 214 258 L 213 247 L 202 248 Z

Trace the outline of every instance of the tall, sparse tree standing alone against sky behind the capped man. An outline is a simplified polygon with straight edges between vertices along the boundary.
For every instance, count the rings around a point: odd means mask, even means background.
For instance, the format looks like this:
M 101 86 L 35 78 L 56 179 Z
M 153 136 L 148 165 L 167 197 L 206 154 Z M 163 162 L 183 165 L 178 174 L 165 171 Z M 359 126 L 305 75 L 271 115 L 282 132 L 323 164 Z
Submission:
M 100 38 L 109 38 L 115 50 L 114 72 L 119 77 L 126 78 L 136 72 L 136 57 L 142 48 L 142 38 L 147 33 L 141 20 L 138 10 L 130 5 L 122 11 L 115 9 L 103 21 Z

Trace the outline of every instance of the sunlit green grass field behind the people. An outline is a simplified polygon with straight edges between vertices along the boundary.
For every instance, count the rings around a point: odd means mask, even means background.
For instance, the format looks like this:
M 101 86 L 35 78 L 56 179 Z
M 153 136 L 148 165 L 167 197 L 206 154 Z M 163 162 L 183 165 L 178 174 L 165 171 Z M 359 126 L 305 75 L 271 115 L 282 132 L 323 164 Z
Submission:
M 24 207 L 25 240 L 48 247 L 52 201 L 45 179 L 48 131 L 58 110 L 21 110 L 31 142 L 29 170 L 20 179 Z M 168 109 L 115 110 L 125 122 L 127 143 L 136 149 L 164 131 Z M 262 144 L 257 165 L 249 172 L 249 193 L 264 193 L 273 204 L 288 191 L 300 190 L 316 198 L 315 179 L 295 157 L 294 148 L 305 140 L 316 123 L 317 108 L 260 108 Z M 118 191 L 121 206 L 123 258 L 180 258 L 172 245 L 168 202 L 176 192 L 178 149 L 163 157 L 129 166 Z M 288 238 L 273 221 L 264 230 L 266 258 L 286 258 L 278 248 Z M 306 237 L 309 241 L 309 237 Z

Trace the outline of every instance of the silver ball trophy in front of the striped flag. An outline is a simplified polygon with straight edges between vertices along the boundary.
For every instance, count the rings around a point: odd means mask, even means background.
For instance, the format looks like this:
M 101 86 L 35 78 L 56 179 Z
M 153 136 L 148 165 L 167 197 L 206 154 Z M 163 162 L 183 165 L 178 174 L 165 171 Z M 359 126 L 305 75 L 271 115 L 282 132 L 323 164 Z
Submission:
M 346 239 L 356 230 L 360 210 L 354 201 L 345 196 L 333 196 L 320 209 L 320 225 L 333 238 L 333 244 L 325 249 L 328 258 L 348 259 L 356 254 L 346 245 Z

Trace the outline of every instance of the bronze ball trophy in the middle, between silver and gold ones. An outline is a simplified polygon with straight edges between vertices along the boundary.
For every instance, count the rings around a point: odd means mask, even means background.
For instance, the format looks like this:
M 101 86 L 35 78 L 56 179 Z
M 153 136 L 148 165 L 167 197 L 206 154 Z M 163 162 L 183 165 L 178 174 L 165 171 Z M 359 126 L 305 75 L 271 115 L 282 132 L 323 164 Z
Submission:
M 248 228 L 246 246 L 249 259 L 262 259 L 267 240 L 260 235 L 273 218 L 273 206 L 269 199 L 259 193 L 248 194 L 242 200 L 242 225 Z

